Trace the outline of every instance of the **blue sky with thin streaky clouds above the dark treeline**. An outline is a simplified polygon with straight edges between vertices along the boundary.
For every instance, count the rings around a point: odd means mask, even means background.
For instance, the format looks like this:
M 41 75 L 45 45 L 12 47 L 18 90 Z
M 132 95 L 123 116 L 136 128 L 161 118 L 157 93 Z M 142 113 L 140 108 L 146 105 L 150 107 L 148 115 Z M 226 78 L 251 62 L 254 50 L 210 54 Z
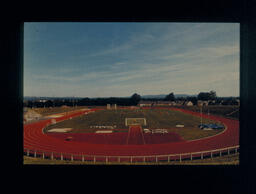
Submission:
M 238 23 L 24 24 L 24 96 L 239 96 Z

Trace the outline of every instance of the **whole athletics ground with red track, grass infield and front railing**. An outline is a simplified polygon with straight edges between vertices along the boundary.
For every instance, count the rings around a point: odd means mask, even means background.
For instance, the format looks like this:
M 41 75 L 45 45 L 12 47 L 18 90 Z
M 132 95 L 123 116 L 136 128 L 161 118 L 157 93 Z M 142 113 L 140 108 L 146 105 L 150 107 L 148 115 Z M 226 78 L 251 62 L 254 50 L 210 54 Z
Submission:
M 202 121 L 224 128 L 202 130 Z M 239 152 L 239 121 L 175 107 L 82 108 L 24 123 L 23 150 L 94 164 L 171 164 Z

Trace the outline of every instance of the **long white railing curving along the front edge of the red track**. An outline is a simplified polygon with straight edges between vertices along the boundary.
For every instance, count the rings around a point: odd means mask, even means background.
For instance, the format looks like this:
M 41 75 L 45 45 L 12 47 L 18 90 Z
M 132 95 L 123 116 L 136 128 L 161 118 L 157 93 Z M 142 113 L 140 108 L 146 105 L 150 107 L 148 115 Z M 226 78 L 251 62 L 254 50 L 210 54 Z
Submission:
M 29 150 L 24 148 L 24 155 L 41 157 L 43 159 L 49 158 L 60 159 L 60 160 L 77 160 L 77 161 L 90 161 L 93 163 L 103 162 L 103 163 L 122 163 L 122 162 L 171 162 L 171 161 L 180 161 L 183 160 L 195 160 L 195 159 L 204 159 L 205 157 L 215 157 L 222 156 L 222 154 L 232 154 L 239 152 L 239 145 L 226 147 L 221 149 L 214 149 L 208 151 L 200 152 L 190 152 L 190 153 L 180 153 L 180 154 L 166 154 L 166 155 L 146 155 L 146 156 L 106 156 L 106 155 L 83 155 L 83 154 L 70 154 L 70 153 L 58 153 L 58 152 L 44 152 L 39 150 Z M 112 159 L 112 161 L 111 161 Z M 114 161 L 113 161 L 114 159 Z M 126 159 L 126 160 L 125 160 Z M 140 161 L 138 161 L 140 159 Z M 123 160 L 123 161 L 122 161 Z M 128 161 L 127 161 L 128 160 Z

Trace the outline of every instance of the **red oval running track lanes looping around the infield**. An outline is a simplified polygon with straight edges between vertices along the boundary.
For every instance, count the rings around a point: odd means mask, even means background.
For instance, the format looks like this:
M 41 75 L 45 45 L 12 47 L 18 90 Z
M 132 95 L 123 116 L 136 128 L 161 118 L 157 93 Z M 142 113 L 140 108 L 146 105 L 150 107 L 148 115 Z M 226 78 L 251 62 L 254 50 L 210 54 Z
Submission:
M 177 108 L 171 109 L 200 116 L 200 113 L 188 110 Z M 61 118 L 56 118 L 56 121 L 58 122 L 91 111 L 97 111 L 97 109 L 65 115 Z M 226 126 L 226 130 L 212 137 L 192 141 L 178 141 L 161 144 L 108 145 L 91 142 L 64 141 L 46 135 L 42 132 L 42 129 L 50 124 L 51 120 L 49 119 L 24 125 L 24 151 L 29 149 L 36 151 L 40 150 L 41 152 L 56 152 L 74 155 L 149 156 L 200 152 L 239 145 L 239 121 L 212 115 L 203 114 L 202 116 L 204 118 L 220 121 Z

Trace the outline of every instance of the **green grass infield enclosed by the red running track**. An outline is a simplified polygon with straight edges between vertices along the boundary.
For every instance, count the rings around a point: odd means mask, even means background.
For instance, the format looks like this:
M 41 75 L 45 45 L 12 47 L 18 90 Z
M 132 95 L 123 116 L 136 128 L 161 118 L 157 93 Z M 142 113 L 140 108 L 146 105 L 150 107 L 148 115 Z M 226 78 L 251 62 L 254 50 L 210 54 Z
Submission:
M 166 109 L 138 109 L 138 110 L 101 110 L 95 113 L 74 117 L 55 125 L 48 126 L 44 132 L 53 128 L 72 128 L 72 133 L 95 132 L 91 126 L 116 126 L 119 131 L 128 131 L 125 126 L 125 118 L 146 118 L 147 125 L 143 128 L 157 129 L 165 128 L 169 132 L 176 132 L 185 140 L 193 140 L 202 137 L 215 135 L 223 130 L 205 131 L 198 128 L 201 122 L 200 117 L 185 114 L 180 111 Z M 203 123 L 216 123 L 209 119 L 203 119 Z M 184 128 L 176 125 L 182 124 Z M 118 130 L 114 130 L 118 132 Z

